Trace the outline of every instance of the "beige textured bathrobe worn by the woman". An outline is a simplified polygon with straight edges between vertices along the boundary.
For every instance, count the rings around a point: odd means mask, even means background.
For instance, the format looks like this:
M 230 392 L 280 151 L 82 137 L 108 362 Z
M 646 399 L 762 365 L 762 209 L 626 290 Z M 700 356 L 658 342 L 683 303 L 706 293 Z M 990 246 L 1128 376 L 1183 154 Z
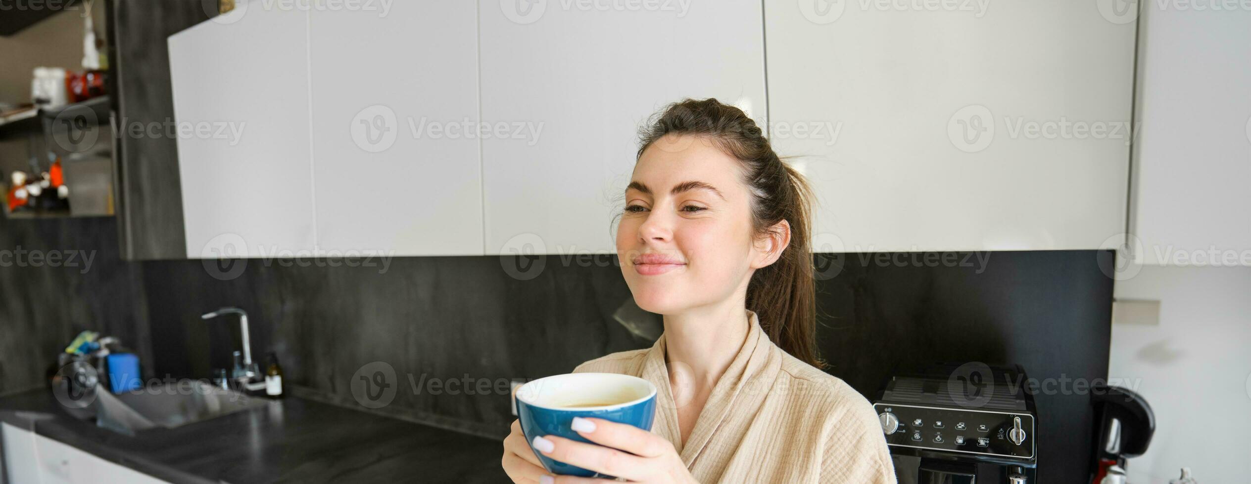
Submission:
M 712 483 L 893 484 L 894 468 L 873 407 L 833 375 L 769 341 L 754 312 L 743 347 L 717 380 L 682 444 L 664 358 L 651 348 L 612 353 L 574 373 L 624 373 L 657 388 L 652 433 L 673 443 L 687 469 Z

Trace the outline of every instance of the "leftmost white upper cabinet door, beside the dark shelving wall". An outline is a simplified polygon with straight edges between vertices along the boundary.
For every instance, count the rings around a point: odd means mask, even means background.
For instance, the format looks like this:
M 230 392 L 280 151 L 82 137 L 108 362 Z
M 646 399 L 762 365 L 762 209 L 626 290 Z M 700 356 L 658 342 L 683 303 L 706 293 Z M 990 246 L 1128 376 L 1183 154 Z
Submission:
M 315 247 L 308 12 L 265 5 L 169 37 L 191 258 Z

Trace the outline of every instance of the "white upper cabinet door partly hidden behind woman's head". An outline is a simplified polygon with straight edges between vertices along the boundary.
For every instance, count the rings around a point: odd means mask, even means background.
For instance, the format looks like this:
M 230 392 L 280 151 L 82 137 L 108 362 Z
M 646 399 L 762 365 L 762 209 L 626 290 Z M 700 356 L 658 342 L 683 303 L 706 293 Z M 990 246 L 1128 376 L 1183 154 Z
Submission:
M 479 1 L 487 253 L 614 253 L 647 117 L 717 97 L 764 121 L 759 1 Z

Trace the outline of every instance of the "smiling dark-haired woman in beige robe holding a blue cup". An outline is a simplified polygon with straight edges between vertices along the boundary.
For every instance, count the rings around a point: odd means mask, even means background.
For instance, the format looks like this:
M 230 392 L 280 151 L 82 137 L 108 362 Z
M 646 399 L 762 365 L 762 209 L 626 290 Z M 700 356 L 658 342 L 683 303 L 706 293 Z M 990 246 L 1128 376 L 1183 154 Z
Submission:
M 662 111 L 642 136 L 617 253 L 664 333 L 574 369 L 656 384 L 652 432 L 579 418 L 574 430 L 599 445 L 537 435 L 534 449 L 642 483 L 894 483 L 872 407 L 818 369 L 809 198 L 737 107 Z M 503 467 L 517 483 L 608 482 L 549 475 L 517 422 Z

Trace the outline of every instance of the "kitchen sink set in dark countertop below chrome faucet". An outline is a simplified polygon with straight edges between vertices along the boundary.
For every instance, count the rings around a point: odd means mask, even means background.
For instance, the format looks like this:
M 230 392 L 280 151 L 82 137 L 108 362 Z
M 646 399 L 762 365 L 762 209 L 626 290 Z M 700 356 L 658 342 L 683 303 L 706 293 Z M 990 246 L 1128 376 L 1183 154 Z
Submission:
M 138 430 L 176 428 L 270 403 L 205 382 L 178 380 L 120 394 L 100 389 L 93 407 L 99 427 L 134 435 Z

